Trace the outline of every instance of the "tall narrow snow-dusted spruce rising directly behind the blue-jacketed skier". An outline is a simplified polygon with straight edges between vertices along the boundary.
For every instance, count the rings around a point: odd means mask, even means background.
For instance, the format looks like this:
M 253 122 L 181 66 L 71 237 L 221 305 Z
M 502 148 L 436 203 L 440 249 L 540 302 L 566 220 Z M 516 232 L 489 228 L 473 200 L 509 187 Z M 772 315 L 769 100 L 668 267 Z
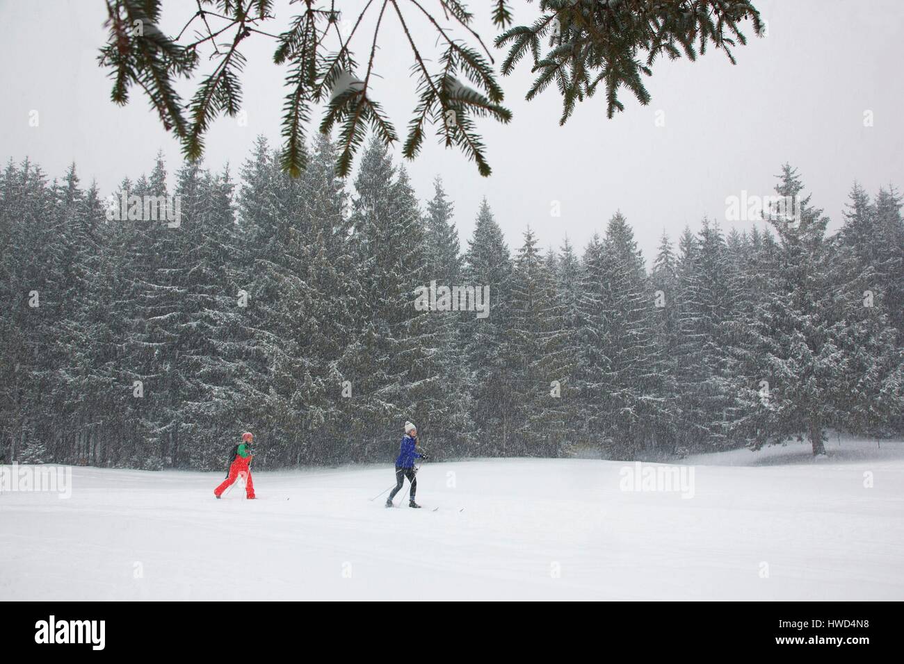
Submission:
M 428 395 L 438 375 L 428 361 L 428 312 L 414 306 L 425 276 L 423 221 L 404 171 L 372 138 L 354 182 L 353 250 L 361 299 L 357 339 L 341 363 L 352 397 L 348 435 L 358 458 L 386 460 L 396 448 L 400 422 L 421 420 L 429 428 Z M 424 326 L 423 328 L 421 326 Z M 418 339 L 428 335 L 427 339 Z M 414 412 L 412 412 L 414 410 Z

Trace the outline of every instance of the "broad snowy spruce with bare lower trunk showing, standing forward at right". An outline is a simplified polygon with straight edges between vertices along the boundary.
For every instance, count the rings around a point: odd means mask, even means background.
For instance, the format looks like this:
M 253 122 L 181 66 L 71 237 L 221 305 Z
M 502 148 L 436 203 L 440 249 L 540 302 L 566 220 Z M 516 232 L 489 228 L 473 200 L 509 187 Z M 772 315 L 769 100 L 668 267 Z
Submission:
M 746 340 L 765 375 L 739 393 L 739 406 L 758 419 L 756 444 L 806 436 L 813 454 L 824 454 L 826 426 L 874 424 L 877 415 L 899 407 L 893 356 L 899 351 L 889 351 L 881 313 L 867 311 L 856 292 L 862 287 L 857 270 L 853 280 L 844 276 L 851 274 L 850 261 L 826 238 L 828 218 L 802 195 L 796 169 L 785 164 L 779 177 L 776 192 L 794 201 L 794 210 L 771 210 L 778 236 L 775 286 L 759 304 Z

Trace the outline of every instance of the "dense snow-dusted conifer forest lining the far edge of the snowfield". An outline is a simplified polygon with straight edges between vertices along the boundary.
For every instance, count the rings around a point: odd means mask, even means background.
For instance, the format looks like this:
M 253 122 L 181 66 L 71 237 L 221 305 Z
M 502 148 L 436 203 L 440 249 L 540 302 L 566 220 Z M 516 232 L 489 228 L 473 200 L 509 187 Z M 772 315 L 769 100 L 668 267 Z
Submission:
M 619 212 L 586 247 L 504 238 L 493 201 L 421 201 L 378 142 L 298 178 L 259 139 L 239 173 L 184 164 L 120 198 L 178 199 L 178 225 L 27 160 L 0 174 L 0 455 L 220 468 L 242 430 L 261 468 L 388 462 L 417 423 L 435 459 L 669 458 L 829 431 L 904 431 L 904 221 L 853 184 L 837 232 L 803 174 L 797 219 L 664 236 L 649 268 Z M 173 191 L 167 182 L 174 182 Z M 629 205 L 630 201 L 626 201 Z M 460 241 L 456 219 L 476 216 Z M 488 315 L 419 288 L 489 286 Z

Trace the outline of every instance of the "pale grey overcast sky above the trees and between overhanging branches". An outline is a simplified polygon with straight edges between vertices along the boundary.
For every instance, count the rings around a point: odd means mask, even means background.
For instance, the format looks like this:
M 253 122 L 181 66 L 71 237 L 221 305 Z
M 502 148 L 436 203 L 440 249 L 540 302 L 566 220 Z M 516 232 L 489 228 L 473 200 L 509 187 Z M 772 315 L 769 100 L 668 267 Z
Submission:
M 337 5 L 354 10 L 363 2 Z M 478 32 L 492 42 L 488 3 L 469 5 L 479 19 Z M 641 107 L 623 91 L 626 112 L 612 120 L 606 119 L 600 94 L 579 105 L 560 127 L 557 91 L 523 100 L 532 79 L 523 61 L 516 76 L 502 81 L 513 122 L 481 122 L 493 175 L 480 177 L 463 154 L 431 137 L 419 158 L 407 163 L 419 197 L 432 195 L 436 175 L 443 178 L 466 246 L 486 196 L 513 249 L 528 224 L 544 246 L 559 247 L 567 233 L 582 247 L 620 209 L 649 260 L 663 229 L 676 237 L 685 223 L 696 229 L 704 215 L 721 220 L 726 230 L 749 228 L 749 222 L 725 220 L 726 197 L 742 190 L 771 193 L 774 175 L 786 161 L 799 169 L 812 203 L 824 208 L 833 227 L 854 180 L 871 193 L 889 183 L 904 189 L 899 70 L 904 5 L 899 0 L 757 0 L 755 5 L 767 19 L 768 35 L 739 47 L 737 66 L 716 50 L 696 63 L 659 61 L 654 76 L 645 80 L 651 104 Z M 165 32 L 178 32 L 192 6 L 167 0 Z M 297 14 L 286 2 L 277 6 L 280 21 Z M 513 6 L 516 23 L 529 23 L 535 15 L 536 5 L 515 0 Z M 346 16 L 353 13 L 349 10 Z M 398 21 L 388 16 L 377 59 L 382 78 L 374 94 L 403 135 L 415 106 L 415 82 Z M 149 171 L 157 150 L 163 150 L 170 173 L 181 157 L 179 145 L 137 90 L 125 108 L 109 101 L 109 81 L 96 61 L 106 36 L 104 19 L 102 0 L 0 0 L 0 158 L 5 163 L 28 156 L 51 176 L 75 161 L 82 181 L 97 180 L 106 195 L 123 176 Z M 412 32 L 422 51 L 433 48 L 426 24 L 414 25 Z M 358 45 L 359 61 L 365 61 L 366 47 Z M 237 175 L 254 136 L 279 144 L 284 70 L 272 64 L 272 51 L 273 43 L 262 36 L 244 49 L 248 123 L 217 121 L 207 139 L 207 165 L 220 169 L 229 162 Z M 39 113 L 36 127 L 29 126 L 33 110 Z M 664 126 L 656 125 L 657 111 Z M 872 126 L 864 126 L 866 112 Z M 553 201 L 560 203 L 560 217 L 551 214 Z

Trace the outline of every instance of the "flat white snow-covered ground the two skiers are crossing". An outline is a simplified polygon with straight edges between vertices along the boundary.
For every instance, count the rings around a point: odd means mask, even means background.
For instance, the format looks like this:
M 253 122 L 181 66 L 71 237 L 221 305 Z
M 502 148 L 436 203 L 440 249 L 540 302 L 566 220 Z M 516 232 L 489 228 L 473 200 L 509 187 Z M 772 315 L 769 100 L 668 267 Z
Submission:
M 423 510 L 368 500 L 388 464 L 255 473 L 259 500 L 240 486 L 214 500 L 222 473 L 75 468 L 69 499 L 0 495 L 0 596 L 904 600 L 904 443 L 808 449 L 639 476 L 589 459 L 425 463 Z M 683 489 L 625 491 L 663 471 Z

